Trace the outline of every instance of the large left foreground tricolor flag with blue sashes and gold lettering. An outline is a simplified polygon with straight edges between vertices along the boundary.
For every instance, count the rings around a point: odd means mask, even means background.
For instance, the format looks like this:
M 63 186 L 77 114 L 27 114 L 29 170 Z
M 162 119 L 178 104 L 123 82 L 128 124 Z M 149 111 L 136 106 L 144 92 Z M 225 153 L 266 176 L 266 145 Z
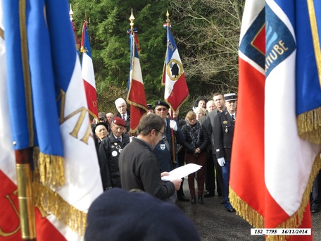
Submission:
M 14 153 L 30 149 L 37 240 L 82 240 L 102 185 L 68 1 L 0 4 L 1 235 L 21 237 Z

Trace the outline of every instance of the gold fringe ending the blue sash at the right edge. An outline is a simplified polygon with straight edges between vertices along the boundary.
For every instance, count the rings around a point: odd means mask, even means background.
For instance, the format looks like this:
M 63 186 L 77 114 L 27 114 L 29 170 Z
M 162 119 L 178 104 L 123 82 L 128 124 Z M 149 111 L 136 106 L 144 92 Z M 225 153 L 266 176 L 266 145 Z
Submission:
M 321 107 L 298 115 L 298 135 L 309 142 L 321 144 Z

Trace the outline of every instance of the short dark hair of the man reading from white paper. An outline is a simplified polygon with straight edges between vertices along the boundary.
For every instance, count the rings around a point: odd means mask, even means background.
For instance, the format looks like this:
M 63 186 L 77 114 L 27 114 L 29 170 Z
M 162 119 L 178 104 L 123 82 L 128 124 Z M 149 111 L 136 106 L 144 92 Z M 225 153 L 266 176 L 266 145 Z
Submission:
M 162 130 L 164 125 L 165 122 L 162 118 L 160 118 L 160 116 L 151 113 L 141 118 L 141 121 L 137 127 L 137 133 L 141 135 L 148 135 L 153 129 L 156 131 Z

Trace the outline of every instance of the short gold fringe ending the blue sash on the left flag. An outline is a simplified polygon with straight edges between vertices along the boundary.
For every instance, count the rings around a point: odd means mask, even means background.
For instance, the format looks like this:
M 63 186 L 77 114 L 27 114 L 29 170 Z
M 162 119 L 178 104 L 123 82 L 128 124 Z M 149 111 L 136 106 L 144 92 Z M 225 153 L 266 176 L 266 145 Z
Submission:
M 62 156 L 53 156 L 39 152 L 34 148 L 34 181 L 42 185 L 57 189 L 65 185 L 65 168 Z

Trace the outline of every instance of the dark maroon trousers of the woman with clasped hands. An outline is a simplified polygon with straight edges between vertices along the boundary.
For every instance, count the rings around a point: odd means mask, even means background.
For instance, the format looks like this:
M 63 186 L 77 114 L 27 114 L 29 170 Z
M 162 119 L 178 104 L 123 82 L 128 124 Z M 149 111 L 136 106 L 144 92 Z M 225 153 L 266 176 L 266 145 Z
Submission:
M 187 164 L 194 163 L 201 165 L 202 168 L 197 171 L 197 188 L 198 194 L 200 196 L 203 195 L 204 191 L 204 183 L 205 183 L 205 166 L 208 152 L 201 152 L 198 156 L 194 156 L 194 154 L 185 153 L 185 161 Z M 191 193 L 191 197 L 195 197 L 195 173 L 189 174 L 189 192 Z

